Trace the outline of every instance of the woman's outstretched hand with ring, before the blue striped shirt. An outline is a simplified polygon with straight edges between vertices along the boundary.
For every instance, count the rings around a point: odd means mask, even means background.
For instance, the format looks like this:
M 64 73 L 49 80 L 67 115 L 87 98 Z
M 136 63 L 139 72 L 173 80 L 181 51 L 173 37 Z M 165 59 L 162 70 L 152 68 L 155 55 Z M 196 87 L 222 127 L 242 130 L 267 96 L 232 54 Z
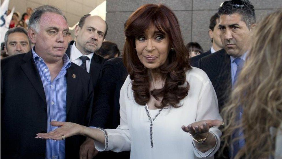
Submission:
M 79 135 L 84 129 L 84 126 L 76 123 L 58 122 L 52 121 L 51 125 L 60 128 L 55 129 L 49 133 L 38 133 L 35 138 L 53 139 L 53 140 L 64 140 L 70 136 Z

